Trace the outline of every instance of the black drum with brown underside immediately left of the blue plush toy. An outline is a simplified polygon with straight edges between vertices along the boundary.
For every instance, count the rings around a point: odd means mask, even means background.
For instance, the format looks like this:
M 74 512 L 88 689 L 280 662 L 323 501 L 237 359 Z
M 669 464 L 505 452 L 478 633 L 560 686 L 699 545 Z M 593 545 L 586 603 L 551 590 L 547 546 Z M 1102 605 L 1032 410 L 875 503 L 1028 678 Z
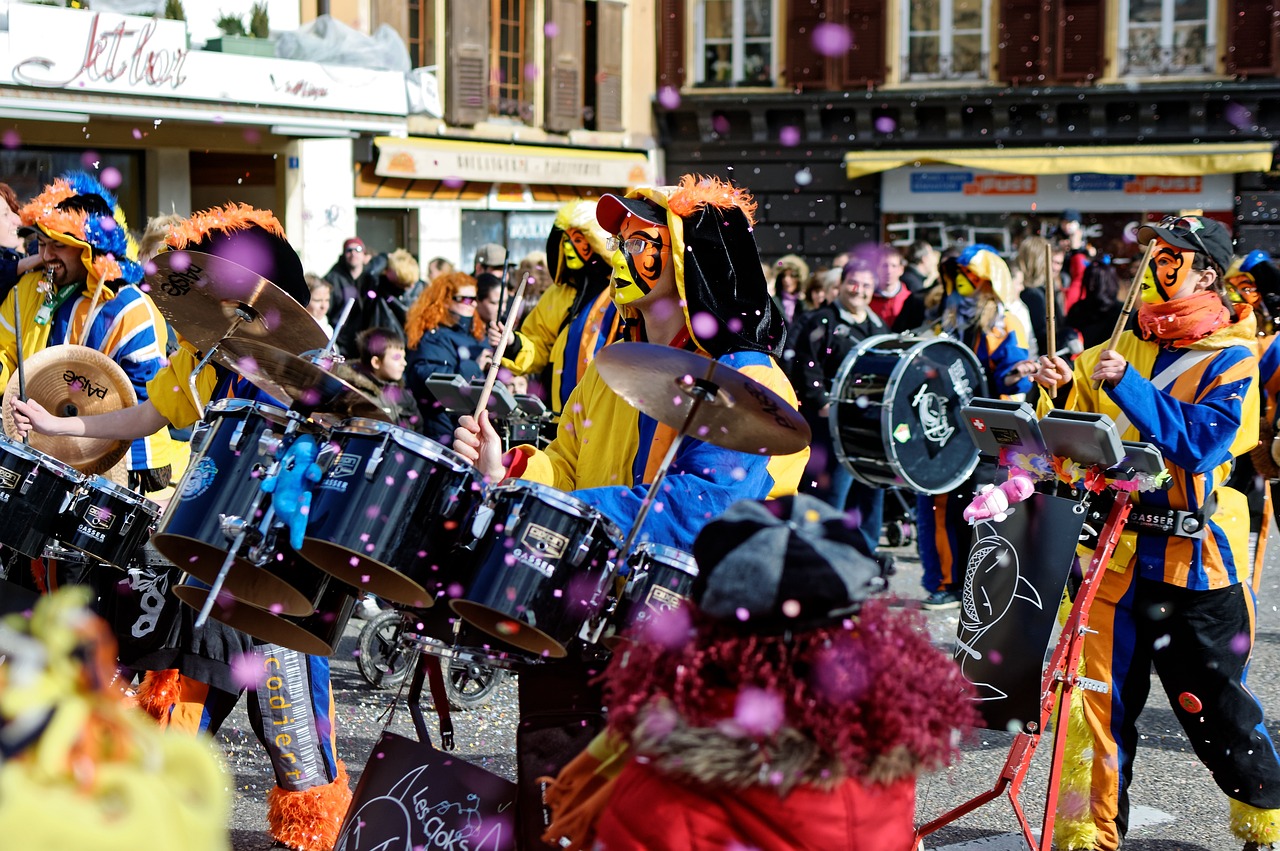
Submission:
M 303 433 L 315 433 L 298 415 L 246 399 L 219 399 L 209 406 L 192 438 L 192 457 L 169 509 L 151 539 L 179 569 L 214 582 L 236 539 L 236 521 L 247 517 L 259 497 L 264 473 L 275 461 L 280 436 L 291 418 Z M 265 511 L 265 500 L 261 503 Z M 223 589 L 238 600 L 289 616 L 315 610 L 314 594 L 294 587 L 274 562 L 256 566 L 247 550 L 232 563 Z M 312 571 L 315 573 L 315 571 Z M 319 577 L 316 577 L 319 581 Z

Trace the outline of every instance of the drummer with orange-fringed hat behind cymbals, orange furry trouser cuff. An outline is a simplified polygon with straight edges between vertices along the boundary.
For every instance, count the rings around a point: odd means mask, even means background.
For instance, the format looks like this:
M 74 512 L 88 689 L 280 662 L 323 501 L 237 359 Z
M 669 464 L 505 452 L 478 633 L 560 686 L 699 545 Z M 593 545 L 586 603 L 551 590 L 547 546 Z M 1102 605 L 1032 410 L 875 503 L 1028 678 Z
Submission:
M 197 212 L 173 228 L 166 243 L 170 251 L 186 248 L 241 265 L 252 264 L 255 271 L 279 285 L 302 307 L 310 301 L 302 264 L 270 211 L 229 205 Z M 201 354 L 189 342 L 179 342 L 168 366 L 148 383 L 150 394 L 141 404 L 97 416 L 55 417 L 38 403 L 15 401 L 13 412 L 19 431 L 128 439 L 169 425 L 195 425 L 200 413 L 188 395 L 188 378 Z M 216 365 L 200 372 L 196 390 L 202 406 L 211 399 L 252 398 L 285 407 Z M 259 688 L 248 701 L 253 732 L 271 759 L 276 778 L 275 788 L 268 793 L 270 834 L 298 851 L 330 851 L 351 804 L 351 786 L 346 765 L 337 755 L 329 659 L 255 641 L 214 619 L 197 628 L 196 612 L 172 593 L 164 598 L 164 608 L 169 607 L 177 607 L 173 632 L 165 649 L 141 660 L 150 669 L 138 688 L 138 704 L 161 726 L 216 735 L 246 688 L 243 676 L 233 667 L 242 667 L 242 659 L 256 654 L 255 664 L 261 665 L 256 668 L 261 672 L 259 682 L 268 676 L 279 678 L 279 688 L 273 687 L 273 695 Z M 157 619 L 166 614 L 161 609 Z M 306 704 L 310 724 L 293 723 L 291 712 L 301 717 L 288 708 L 293 704 Z M 289 735 L 282 737 L 271 732 L 279 723 L 288 724 Z

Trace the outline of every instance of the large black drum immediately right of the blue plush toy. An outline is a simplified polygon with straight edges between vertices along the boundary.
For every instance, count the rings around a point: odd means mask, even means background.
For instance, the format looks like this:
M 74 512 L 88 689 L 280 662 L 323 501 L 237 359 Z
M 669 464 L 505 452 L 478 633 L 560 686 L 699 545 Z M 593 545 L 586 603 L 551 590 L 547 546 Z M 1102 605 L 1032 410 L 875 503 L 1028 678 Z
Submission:
M 311 498 L 302 555 L 383 599 L 430 607 L 480 502 L 479 473 L 452 449 L 378 420 L 347 420 L 332 439 L 338 456 Z

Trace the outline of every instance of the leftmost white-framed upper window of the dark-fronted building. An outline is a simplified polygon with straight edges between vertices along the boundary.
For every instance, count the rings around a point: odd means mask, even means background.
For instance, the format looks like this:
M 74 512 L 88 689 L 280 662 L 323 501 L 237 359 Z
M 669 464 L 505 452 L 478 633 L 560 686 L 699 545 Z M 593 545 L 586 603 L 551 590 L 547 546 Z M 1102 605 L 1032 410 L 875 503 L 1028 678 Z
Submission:
M 696 37 L 698 84 L 773 84 L 773 0 L 703 0 Z

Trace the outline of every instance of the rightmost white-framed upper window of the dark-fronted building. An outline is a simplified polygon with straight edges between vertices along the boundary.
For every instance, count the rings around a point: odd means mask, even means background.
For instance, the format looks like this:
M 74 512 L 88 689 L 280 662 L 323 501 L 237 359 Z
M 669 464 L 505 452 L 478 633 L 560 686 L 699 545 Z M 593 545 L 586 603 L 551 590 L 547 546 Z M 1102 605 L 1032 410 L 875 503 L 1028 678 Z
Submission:
M 1120 0 L 1125 74 L 1190 74 L 1213 69 L 1215 0 Z

